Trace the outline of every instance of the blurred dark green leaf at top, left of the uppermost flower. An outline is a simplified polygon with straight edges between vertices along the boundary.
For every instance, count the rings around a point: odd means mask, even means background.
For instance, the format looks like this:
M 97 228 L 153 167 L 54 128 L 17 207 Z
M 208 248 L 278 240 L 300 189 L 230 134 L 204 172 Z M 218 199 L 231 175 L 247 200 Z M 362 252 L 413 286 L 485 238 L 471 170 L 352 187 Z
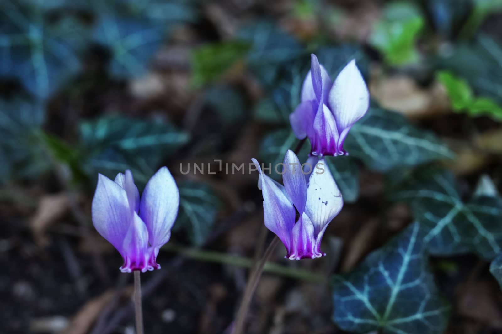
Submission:
M 250 49 L 248 42 L 227 41 L 204 45 L 192 51 L 192 85 L 200 87 L 221 78 Z

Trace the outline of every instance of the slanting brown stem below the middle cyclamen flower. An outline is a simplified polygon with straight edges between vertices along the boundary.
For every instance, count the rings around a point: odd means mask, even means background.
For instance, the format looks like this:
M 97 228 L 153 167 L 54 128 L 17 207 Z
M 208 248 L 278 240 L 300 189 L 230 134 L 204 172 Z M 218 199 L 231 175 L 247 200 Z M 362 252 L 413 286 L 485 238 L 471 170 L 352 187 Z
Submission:
M 267 260 L 272 255 L 272 252 L 274 251 L 278 243 L 279 238 L 274 237 L 274 240 L 272 240 L 269 247 L 263 254 L 262 259 L 257 263 L 255 270 L 253 270 L 253 273 L 249 277 L 249 280 L 247 281 L 246 287 L 244 289 L 244 295 L 242 296 L 239 310 L 237 311 L 237 316 L 235 317 L 235 324 L 233 326 L 232 334 L 241 334 L 243 332 L 247 309 L 249 308 L 249 303 L 251 302 L 251 299 L 255 294 L 255 290 L 258 287 L 258 283 L 260 282 L 260 278 L 262 277 L 263 267 L 265 266 L 265 263 L 267 263 Z

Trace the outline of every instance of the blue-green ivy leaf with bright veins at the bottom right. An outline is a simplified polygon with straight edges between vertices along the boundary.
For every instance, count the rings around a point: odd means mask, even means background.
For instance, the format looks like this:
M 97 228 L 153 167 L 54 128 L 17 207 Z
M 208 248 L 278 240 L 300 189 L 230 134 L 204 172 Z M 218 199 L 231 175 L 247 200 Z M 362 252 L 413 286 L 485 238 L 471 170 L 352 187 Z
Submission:
M 356 333 L 442 334 L 450 306 L 438 291 L 412 224 L 352 271 L 333 278 L 333 321 Z

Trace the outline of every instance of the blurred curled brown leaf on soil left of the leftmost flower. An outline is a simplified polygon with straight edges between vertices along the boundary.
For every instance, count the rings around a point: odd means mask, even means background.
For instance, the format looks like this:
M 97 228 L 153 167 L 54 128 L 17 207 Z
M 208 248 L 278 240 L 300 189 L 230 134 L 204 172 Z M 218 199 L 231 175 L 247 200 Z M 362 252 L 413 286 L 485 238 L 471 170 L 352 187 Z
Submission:
M 44 195 L 40 199 L 37 211 L 30 223 L 37 244 L 42 246 L 49 243 L 45 231 L 51 224 L 62 218 L 69 209 L 70 201 L 67 193 Z

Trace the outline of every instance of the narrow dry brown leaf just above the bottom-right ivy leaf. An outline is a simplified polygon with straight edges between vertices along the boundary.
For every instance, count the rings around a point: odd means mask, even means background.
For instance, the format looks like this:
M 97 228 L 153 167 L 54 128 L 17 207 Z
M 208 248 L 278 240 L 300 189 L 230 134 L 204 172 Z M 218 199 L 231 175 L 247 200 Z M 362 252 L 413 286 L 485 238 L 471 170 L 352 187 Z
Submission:
M 349 243 L 347 255 L 343 259 L 342 272 L 349 271 L 361 259 L 361 257 L 371 247 L 371 241 L 375 235 L 376 229 L 379 226 L 379 221 L 376 219 L 369 220 L 364 224 L 359 232 Z

